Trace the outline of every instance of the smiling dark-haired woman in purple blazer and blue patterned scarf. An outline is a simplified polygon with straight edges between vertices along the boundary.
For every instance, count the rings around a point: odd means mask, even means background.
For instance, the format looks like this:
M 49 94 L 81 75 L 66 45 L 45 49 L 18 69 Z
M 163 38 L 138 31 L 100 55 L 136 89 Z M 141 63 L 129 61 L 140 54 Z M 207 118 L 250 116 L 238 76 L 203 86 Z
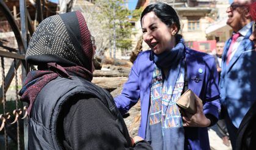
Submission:
M 139 136 L 153 149 L 210 149 L 207 127 L 220 110 L 214 57 L 186 48 L 178 15 L 163 2 L 144 9 L 141 27 L 150 50 L 137 56 L 115 104 L 125 114 L 141 99 Z M 204 106 L 196 102 L 196 114 L 181 116 L 176 101 L 188 88 Z

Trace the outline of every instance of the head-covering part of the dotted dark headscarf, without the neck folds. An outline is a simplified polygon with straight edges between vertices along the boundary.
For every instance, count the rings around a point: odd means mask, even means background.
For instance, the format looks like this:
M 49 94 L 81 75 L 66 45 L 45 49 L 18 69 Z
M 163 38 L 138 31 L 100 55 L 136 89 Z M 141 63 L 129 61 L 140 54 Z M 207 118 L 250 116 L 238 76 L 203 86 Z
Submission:
M 92 41 L 81 12 L 46 18 L 35 30 L 26 52 L 34 65 L 56 62 L 62 66 L 78 65 L 92 72 Z

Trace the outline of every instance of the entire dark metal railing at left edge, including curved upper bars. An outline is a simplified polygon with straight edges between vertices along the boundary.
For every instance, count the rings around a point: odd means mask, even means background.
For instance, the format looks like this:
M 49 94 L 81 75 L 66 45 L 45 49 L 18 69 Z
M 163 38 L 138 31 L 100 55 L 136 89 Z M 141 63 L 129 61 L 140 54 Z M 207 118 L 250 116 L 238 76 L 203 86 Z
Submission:
M 27 9 L 26 9 L 26 2 L 24 0 L 20 0 L 20 3 L 24 3 L 24 5 L 20 5 L 20 16 L 21 17 L 21 32 L 20 28 L 18 27 L 15 18 L 13 17 L 12 13 L 10 12 L 9 8 L 5 4 L 4 1 L 0 1 L 0 10 L 4 14 L 5 18 L 10 24 L 12 31 L 15 35 L 16 42 L 18 44 L 18 52 L 8 52 L 4 51 L 5 48 L 0 50 L 0 57 L 1 57 L 1 79 L 2 85 L 0 89 L 0 104 L 2 105 L 2 112 L 0 113 L 0 133 L 4 132 L 4 148 L 2 149 L 9 149 L 9 139 L 15 141 L 17 149 L 27 149 L 27 112 L 26 106 L 23 107 L 23 104 L 19 106 L 18 104 L 21 103 L 18 97 L 18 76 L 17 70 L 21 67 L 21 80 L 24 79 L 26 76 L 27 70 L 26 63 L 24 61 L 24 54 L 26 49 L 26 37 L 27 35 L 21 36 L 21 33 L 28 33 L 27 26 L 24 26 L 24 22 L 27 22 L 29 17 L 27 16 Z M 30 30 L 31 32 L 32 30 Z M 9 71 L 5 74 L 5 59 L 11 60 L 11 65 Z M 7 99 L 5 93 L 10 87 L 12 80 L 15 80 L 15 107 L 13 110 L 9 110 L 7 112 Z M 13 132 L 12 127 L 16 127 L 16 132 Z M 21 128 L 23 127 L 23 129 Z M 15 133 L 16 135 L 13 135 Z M 23 134 L 21 134 L 23 133 Z M 21 140 L 23 139 L 23 140 Z M 2 146 L 2 145 L 1 145 Z M 13 148 L 12 148 L 13 149 Z

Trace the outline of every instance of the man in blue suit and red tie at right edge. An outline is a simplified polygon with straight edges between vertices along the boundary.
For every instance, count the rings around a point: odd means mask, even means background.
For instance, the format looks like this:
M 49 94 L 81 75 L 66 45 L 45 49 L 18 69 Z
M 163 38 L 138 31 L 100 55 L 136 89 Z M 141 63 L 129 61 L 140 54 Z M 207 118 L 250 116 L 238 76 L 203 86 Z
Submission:
M 235 0 L 227 9 L 227 24 L 233 29 L 222 56 L 221 103 L 232 147 L 244 116 L 256 101 L 256 51 L 249 40 L 252 25 L 248 5 L 252 1 Z

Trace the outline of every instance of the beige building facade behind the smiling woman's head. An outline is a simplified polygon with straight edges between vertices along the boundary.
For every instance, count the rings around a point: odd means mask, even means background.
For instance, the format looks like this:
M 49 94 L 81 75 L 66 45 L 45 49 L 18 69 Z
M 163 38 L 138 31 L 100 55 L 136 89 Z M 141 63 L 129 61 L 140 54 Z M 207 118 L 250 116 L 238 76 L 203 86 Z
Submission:
M 225 25 L 227 18 L 225 10 L 229 6 L 228 0 L 139 0 L 136 9 L 145 8 L 148 4 L 155 2 L 165 2 L 174 7 L 180 16 L 180 34 L 183 35 L 187 45 L 193 49 L 211 52 L 214 51 L 216 41 L 229 37 L 229 26 Z M 226 32 L 213 26 L 216 21 L 224 22 L 223 30 Z M 210 26 L 213 26 L 211 30 Z

